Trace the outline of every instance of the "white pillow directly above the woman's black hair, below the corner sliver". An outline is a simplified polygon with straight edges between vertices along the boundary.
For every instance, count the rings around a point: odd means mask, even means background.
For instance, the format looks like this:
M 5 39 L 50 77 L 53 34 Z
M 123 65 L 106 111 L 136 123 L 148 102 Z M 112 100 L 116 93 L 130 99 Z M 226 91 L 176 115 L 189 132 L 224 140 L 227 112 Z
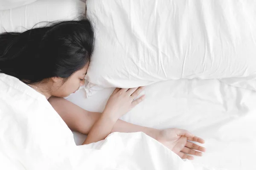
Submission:
M 79 0 L 37 0 L 18 8 L 0 11 L 0 32 L 25 31 L 45 21 L 73 20 L 85 12 Z M 41 22 L 41 23 L 40 23 Z

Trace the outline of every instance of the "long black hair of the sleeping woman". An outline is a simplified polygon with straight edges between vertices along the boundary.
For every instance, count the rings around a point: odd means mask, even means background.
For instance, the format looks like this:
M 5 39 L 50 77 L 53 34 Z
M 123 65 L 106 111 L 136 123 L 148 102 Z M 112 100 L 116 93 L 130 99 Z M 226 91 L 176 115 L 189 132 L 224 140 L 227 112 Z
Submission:
M 93 26 L 87 19 L 49 23 L 25 32 L 0 34 L 0 73 L 26 84 L 68 79 L 90 61 Z

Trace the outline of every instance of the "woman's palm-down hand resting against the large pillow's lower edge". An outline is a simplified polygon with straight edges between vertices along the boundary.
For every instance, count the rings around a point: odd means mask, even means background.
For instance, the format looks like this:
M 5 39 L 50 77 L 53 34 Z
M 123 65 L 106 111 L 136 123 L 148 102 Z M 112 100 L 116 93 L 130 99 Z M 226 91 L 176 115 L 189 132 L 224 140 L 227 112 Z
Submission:
M 116 88 L 108 99 L 103 114 L 117 121 L 119 117 L 130 111 L 143 101 L 145 95 L 134 100 L 143 91 L 144 87 L 139 88 Z

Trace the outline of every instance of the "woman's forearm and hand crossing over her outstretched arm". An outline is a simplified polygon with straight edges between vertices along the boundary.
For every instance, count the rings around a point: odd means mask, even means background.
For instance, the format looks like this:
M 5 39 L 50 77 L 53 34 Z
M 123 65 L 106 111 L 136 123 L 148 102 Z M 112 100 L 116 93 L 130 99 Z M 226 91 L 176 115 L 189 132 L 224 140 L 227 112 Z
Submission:
M 116 88 L 109 97 L 102 115 L 90 129 L 83 144 L 90 144 L 105 139 L 111 133 L 119 117 L 142 102 L 144 95 L 134 100 L 142 90 L 143 87 L 130 89 Z

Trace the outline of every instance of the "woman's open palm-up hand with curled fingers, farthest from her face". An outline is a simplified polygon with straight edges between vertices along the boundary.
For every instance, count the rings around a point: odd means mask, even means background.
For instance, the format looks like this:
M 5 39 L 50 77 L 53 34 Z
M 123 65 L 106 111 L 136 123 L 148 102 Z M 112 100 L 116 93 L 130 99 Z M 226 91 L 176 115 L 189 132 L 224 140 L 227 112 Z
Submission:
M 170 128 L 159 130 L 155 139 L 174 153 L 176 153 L 182 159 L 194 159 L 193 156 L 202 156 L 202 152 L 205 152 L 205 147 L 199 146 L 189 141 L 204 143 L 204 139 L 201 139 L 197 136 L 194 136 L 192 133 L 189 133 L 187 130 Z M 199 152 L 200 151 L 200 152 Z

